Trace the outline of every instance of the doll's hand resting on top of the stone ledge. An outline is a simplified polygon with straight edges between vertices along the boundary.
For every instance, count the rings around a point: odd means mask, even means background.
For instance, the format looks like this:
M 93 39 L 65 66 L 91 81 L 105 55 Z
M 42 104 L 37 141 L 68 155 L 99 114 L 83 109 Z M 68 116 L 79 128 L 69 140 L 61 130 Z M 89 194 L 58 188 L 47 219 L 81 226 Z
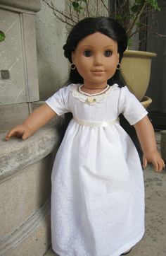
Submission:
M 27 139 L 32 135 L 32 131 L 29 127 L 25 124 L 20 124 L 13 129 L 6 135 L 5 139 L 8 141 L 12 136 L 16 136 L 18 138 Z

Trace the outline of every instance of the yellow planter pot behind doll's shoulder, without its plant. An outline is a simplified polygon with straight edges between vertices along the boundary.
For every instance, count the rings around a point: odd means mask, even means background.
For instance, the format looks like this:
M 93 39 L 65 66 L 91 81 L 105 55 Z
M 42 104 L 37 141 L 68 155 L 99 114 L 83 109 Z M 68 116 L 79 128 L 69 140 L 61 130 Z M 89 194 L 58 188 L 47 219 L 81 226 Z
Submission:
M 122 58 L 122 76 L 127 86 L 139 101 L 146 94 L 151 76 L 151 61 L 157 54 L 153 52 L 141 52 L 127 50 Z

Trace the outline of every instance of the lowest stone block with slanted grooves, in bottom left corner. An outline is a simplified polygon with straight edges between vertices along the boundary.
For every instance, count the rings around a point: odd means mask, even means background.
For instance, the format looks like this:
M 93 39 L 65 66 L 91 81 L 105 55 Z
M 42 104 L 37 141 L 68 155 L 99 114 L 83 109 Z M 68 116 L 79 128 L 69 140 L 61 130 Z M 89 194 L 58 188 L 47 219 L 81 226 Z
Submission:
M 42 256 L 51 243 L 50 199 L 14 233 L 0 242 L 0 255 Z

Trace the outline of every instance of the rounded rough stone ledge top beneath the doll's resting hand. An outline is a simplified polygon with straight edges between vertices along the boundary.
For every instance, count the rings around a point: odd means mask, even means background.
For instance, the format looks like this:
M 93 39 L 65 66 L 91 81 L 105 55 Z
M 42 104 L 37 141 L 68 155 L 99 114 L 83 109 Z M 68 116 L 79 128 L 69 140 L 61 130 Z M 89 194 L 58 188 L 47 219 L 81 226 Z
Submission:
M 56 127 L 49 125 L 25 141 L 18 138 L 5 141 L 5 135 L 0 134 L 0 180 L 44 158 L 57 149 L 60 142 Z

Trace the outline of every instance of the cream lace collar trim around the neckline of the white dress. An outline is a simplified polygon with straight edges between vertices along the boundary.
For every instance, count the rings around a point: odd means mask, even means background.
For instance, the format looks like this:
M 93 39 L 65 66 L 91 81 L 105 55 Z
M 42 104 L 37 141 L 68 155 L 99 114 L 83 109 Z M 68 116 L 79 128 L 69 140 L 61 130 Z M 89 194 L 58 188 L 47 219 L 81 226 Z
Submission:
M 90 104 L 90 105 L 94 105 L 98 102 L 101 102 L 106 97 L 108 97 L 108 95 L 110 95 L 110 93 L 113 90 L 115 90 L 118 87 L 117 83 L 115 83 L 113 86 L 110 86 L 110 88 L 108 88 L 108 90 L 105 93 L 102 93 L 100 95 L 89 95 L 88 96 L 88 95 L 84 95 L 83 93 L 79 92 L 78 86 L 80 86 L 80 85 L 75 84 L 71 88 L 73 97 L 78 98 L 82 102 Z

